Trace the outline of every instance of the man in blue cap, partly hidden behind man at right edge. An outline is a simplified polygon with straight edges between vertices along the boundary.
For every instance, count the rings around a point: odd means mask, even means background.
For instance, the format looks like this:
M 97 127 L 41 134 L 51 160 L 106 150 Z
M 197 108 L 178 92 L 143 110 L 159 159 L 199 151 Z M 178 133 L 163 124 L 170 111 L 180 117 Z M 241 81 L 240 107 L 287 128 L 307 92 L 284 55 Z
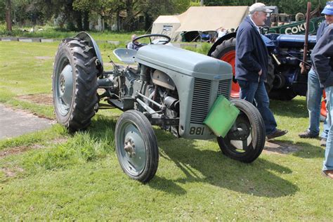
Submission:
M 332 5 L 332 6 L 331 6 Z M 317 42 L 324 33 L 325 28 L 333 23 L 333 1 L 328 1 L 327 6 L 325 6 L 322 14 L 325 15 L 325 21 L 322 22 L 317 31 Z M 319 126 L 320 126 L 320 104 L 322 99 L 322 87 L 320 87 L 320 82 L 317 73 L 313 67 L 308 72 L 308 92 L 306 96 L 306 105 L 308 107 L 308 117 L 309 125 L 308 129 L 303 133 L 299 133 L 301 138 L 316 138 L 319 136 Z M 327 120 L 324 122 L 324 130 L 321 134 L 320 145 L 325 146 L 327 141 L 327 132 L 329 126 L 327 125 Z

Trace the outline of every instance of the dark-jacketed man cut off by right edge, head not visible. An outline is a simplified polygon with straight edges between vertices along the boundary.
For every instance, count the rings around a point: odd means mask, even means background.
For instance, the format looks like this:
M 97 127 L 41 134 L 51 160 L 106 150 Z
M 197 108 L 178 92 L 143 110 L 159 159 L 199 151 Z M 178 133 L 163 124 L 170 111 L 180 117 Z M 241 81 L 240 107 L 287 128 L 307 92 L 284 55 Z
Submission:
M 333 3 L 332 3 L 333 10 Z M 325 88 L 327 124 L 329 131 L 325 149 L 325 160 L 322 172 L 333 179 L 333 24 L 329 25 L 319 39 L 311 54 L 315 72 L 320 85 Z

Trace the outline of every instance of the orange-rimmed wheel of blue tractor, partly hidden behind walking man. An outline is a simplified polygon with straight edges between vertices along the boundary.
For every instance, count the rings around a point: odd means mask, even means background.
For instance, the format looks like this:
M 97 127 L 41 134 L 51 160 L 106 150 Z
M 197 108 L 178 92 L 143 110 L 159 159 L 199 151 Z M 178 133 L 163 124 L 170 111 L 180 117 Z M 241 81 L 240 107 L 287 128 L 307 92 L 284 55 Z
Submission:
M 211 53 L 211 57 L 223 60 L 229 63 L 233 67 L 233 83 L 231 85 L 231 98 L 240 98 L 240 86 L 235 80 L 235 58 L 236 58 L 236 38 L 230 38 L 216 46 L 214 52 Z M 268 74 L 265 80 L 266 91 L 269 92 L 273 88 L 274 80 L 274 65 L 273 60 L 268 56 Z

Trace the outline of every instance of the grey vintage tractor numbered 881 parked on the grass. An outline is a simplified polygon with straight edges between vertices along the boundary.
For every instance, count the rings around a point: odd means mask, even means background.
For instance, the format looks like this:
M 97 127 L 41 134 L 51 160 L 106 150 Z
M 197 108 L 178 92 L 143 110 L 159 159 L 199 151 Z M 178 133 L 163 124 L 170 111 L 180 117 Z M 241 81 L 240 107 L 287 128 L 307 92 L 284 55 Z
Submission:
M 164 40 L 152 44 L 152 37 Z M 56 118 L 70 131 L 86 129 L 99 107 L 124 111 L 115 129 L 117 158 L 129 177 L 145 183 L 159 162 L 152 125 L 176 137 L 215 138 L 203 122 L 218 96 L 229 99 L 233 74 L 221 60 L 165 45 L 170 38 L 164 35 L 144 35 L 133 44 L 141 38 L 149 38 L 150 44 L 138 51 L 114 51 L 131 66 L 121 68 L 111 61 L 111 71 L 103 70 L 100 51 L 89 34 L 63 39 L 55 55 L 52 85 Z M 247 101 L 231 103 L 240 113 L 226 136 L 217 137 L 218 145 L 228 157 L 253 162 L 265 143 L 263 119 Z M 223 115 L 228 118 L 228 113 Z

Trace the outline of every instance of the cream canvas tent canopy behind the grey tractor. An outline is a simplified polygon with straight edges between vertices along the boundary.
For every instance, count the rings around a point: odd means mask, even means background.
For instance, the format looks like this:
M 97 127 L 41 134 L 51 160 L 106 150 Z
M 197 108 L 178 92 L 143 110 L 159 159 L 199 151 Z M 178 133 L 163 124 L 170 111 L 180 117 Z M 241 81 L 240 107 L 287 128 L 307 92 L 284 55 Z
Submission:
M 160 15 L 152 33 L 166 34 L 177 41 L 182 32 L 236 29 L 248 13 L 249 6 L 192 6 L 181 15 Z

